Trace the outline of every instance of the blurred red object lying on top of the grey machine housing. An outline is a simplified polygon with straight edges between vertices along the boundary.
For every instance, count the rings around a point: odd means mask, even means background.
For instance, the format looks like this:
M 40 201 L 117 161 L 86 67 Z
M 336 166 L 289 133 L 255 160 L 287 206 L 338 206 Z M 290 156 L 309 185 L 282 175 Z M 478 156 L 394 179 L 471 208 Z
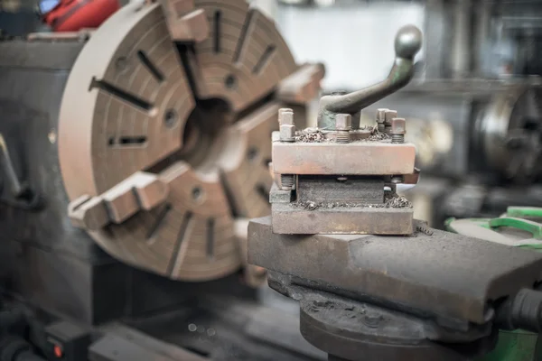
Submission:
M 43 21 L 55 32 L 77 32 L 97 28 L 120 7 L 118 0 L 61 0 Z

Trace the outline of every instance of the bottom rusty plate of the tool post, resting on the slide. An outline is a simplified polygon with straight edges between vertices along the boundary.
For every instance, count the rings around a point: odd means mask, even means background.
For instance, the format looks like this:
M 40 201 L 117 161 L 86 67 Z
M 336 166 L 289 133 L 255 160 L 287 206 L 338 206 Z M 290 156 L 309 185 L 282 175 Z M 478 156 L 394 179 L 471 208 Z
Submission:
M 286 235 L 412 233 L 413 208 L 334 207 L 315 210 L 275 203 L 273 233 Z

